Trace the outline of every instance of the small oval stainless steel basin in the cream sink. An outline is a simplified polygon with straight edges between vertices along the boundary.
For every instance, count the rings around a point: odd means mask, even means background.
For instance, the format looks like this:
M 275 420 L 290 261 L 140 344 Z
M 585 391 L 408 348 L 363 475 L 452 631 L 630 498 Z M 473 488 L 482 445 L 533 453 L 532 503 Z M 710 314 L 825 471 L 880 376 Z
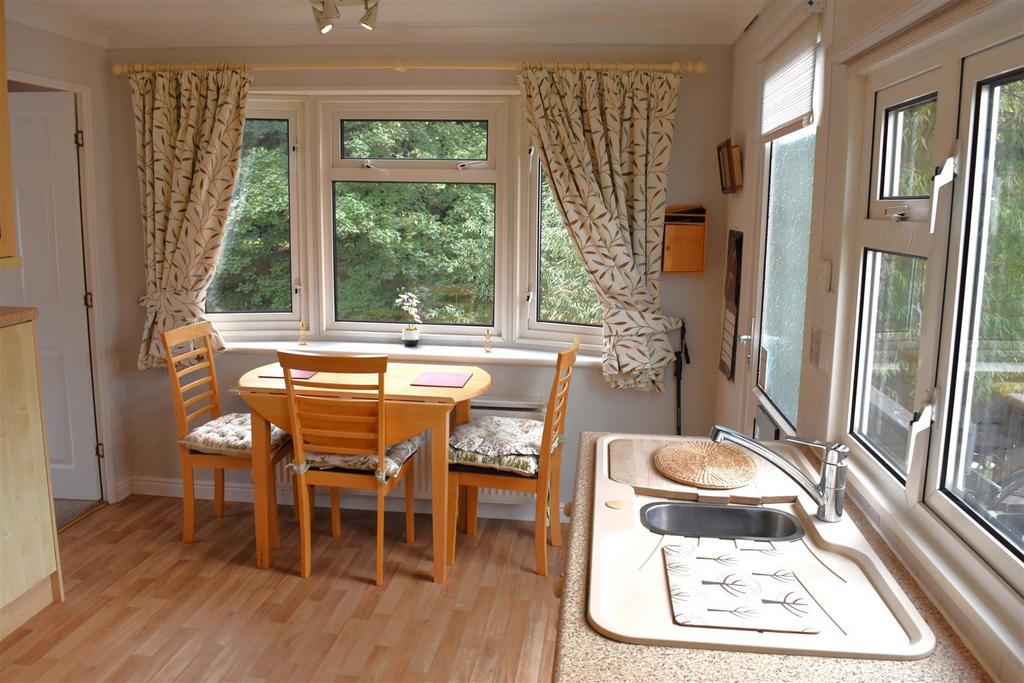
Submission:
M 798 541 L 804 527 L 794 515 L 771 508 L 702 503 L 648 503 L 640 521 L 655 533 L 749 541 Z

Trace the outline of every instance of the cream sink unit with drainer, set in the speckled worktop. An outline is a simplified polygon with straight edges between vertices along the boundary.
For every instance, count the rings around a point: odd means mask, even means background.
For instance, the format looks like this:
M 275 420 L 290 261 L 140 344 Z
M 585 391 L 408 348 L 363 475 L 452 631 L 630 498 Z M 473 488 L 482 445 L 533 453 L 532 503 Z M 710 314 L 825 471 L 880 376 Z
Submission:
M 647 473 L 646 459 L 674 442 L 598 439 L 587 598 L 598 633 L 778 654 L 932 652 L 934 634 L 849 517 L 816 519 L 817 505 L 784 476 L 759 474 L 751 490 L 700 489 L 696 501 L 680 500 L 677 485 Z M 777 447 L 812 469 L 795 446 Z

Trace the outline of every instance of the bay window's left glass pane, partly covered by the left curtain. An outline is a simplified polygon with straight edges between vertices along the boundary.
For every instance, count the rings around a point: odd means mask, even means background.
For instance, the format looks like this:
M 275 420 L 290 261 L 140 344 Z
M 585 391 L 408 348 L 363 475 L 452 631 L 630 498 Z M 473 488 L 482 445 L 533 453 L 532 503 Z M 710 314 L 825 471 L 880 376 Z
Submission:
M 246 119 L 234 196 L 206 294 L 207 312 L 292 310 L 288 154 L 286 119 Z

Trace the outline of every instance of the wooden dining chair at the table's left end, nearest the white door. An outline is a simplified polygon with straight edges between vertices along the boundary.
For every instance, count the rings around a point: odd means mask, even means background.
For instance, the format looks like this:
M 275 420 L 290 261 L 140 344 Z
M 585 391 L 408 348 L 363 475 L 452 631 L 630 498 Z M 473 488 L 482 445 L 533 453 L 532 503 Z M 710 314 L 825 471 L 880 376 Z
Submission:
M 252 470 L 252 423 L 249 413 L 220 412 L 220 388 L 213 359 L 209 323 L 196 323 L 161 334 L 164 358 L 171 379 L 174 420 L 178 431 L 184 520 L 182 541 L 196 536 L 196 468 L 213 469 L 213 515 L 224 514 L 224 470 Z M 186 350 L 175 353 L 175 349 Z M 195 425 L 195 426 L 194 426 Z M 273 462 L 288 456 L 291 438 L 270 427 Z M 274 485 L 270 480 L 270 486 Z M 273 490 L 267 492 L 271 502 Z M 271 506 L 270 535 L 280 543 L 276 506 Z

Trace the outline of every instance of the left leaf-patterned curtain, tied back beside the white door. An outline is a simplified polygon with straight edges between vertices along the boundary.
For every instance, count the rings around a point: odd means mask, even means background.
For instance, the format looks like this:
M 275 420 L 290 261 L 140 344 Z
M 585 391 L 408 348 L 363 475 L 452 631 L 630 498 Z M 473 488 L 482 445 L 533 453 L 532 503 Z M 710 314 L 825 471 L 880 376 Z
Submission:
M 241 69 L 131 74 L 145 231 L 140 369 L 164 364 L 160 334 L 203 318 L 234 190 L 251 77 Z M 214 333 L 214 344 L 224 347 Z

